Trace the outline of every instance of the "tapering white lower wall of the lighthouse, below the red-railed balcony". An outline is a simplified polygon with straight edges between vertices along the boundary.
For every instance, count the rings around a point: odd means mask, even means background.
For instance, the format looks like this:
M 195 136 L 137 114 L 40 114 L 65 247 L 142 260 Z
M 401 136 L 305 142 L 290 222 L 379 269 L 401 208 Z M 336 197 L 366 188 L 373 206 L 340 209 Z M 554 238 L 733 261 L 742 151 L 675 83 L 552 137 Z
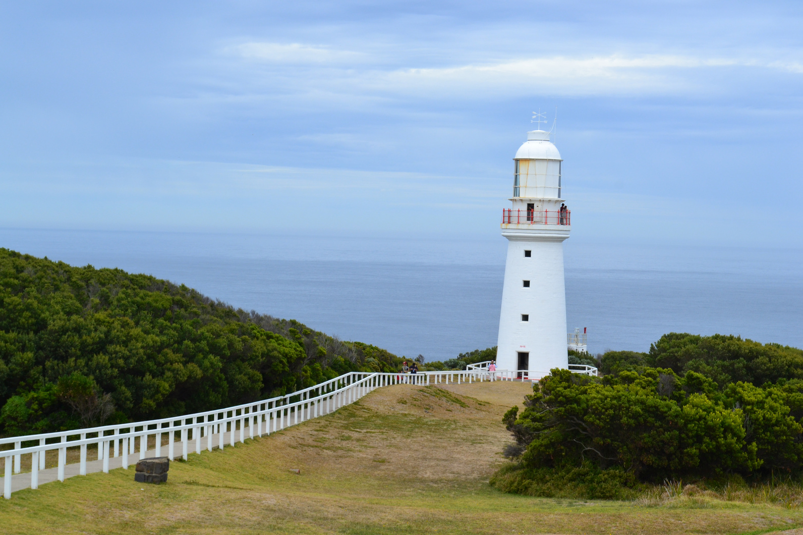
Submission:
M 566 291 L 563 240 L 554 237 L 506 236 L 507 263 L 499 317 L 496 362 L 499 369 L 516 370 L 518 352 L 530 354 L 531 371 L 569 366 L 566 351 Z M 532 257 L 524 257 L 530 249 Z M 522 281 L 529 280 L 524 288 Z M 522 322 L 521 314 L 529 314 Z

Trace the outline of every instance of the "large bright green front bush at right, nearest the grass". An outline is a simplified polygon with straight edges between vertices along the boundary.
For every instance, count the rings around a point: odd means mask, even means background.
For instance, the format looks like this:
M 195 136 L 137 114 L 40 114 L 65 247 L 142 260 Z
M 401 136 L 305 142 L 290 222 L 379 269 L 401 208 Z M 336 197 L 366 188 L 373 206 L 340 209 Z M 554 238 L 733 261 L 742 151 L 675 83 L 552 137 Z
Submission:
M 663 368 L 603 379 L 552 370 L 503 424 L 524 469 L 596 466 L 645 481 L 800 472 L 801 393 L 799 381 L 720 390 L 695 371 Z

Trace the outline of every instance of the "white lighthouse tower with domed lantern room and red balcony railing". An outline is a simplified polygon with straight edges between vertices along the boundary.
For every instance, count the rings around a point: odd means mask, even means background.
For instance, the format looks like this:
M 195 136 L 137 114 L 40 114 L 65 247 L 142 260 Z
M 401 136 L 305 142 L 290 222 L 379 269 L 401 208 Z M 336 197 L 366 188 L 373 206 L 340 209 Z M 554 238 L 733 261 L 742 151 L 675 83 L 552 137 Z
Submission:
M 538 379 L 569 366 L 563 241 L 572 218 L 561 197 L 563 160 L 549 132 L 527 132 L 513 163 L 512 206 L 502 211 L 507 261 L 496 363 Z

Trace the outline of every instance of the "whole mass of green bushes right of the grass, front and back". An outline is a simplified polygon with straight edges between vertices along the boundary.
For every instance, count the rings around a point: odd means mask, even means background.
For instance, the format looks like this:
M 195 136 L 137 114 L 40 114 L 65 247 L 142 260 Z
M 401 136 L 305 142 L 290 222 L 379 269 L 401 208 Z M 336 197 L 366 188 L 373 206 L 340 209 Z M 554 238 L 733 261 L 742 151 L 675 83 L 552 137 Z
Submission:
M 518 462 L 495 485 L 614 497 L 639 482 L 803 475 L 803 351 L 672 333 L 597 363 L 606 375 L 553 370 L 507 412 Z

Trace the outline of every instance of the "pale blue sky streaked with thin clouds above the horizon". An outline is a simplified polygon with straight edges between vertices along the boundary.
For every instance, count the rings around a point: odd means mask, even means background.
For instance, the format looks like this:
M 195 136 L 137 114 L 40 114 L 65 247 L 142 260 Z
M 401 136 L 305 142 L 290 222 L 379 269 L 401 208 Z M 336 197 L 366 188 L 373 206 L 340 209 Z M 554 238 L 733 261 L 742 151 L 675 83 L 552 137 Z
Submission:
M 803 246 L 801 2 L 3 2 L 0 226 Z

